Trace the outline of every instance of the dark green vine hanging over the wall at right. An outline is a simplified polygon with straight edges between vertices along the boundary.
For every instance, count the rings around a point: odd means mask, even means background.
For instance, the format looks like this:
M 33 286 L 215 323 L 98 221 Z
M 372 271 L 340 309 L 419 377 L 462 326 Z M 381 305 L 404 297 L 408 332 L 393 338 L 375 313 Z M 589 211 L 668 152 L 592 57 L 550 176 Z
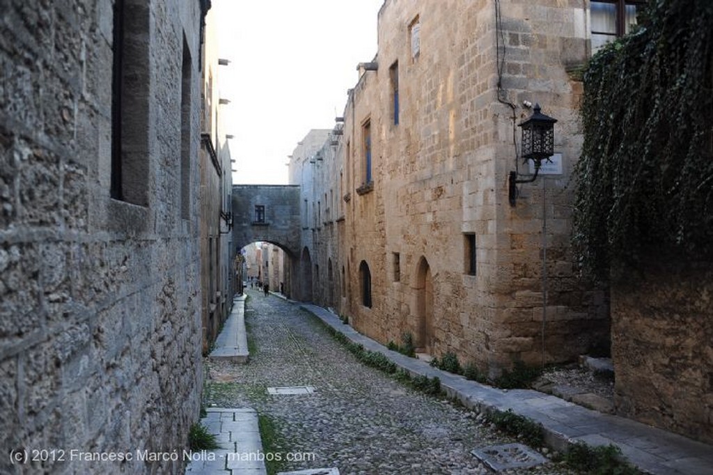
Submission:
M 713 256 L 713 1 L 652 0 L 588 65 L 573 241 L 586 275 Z

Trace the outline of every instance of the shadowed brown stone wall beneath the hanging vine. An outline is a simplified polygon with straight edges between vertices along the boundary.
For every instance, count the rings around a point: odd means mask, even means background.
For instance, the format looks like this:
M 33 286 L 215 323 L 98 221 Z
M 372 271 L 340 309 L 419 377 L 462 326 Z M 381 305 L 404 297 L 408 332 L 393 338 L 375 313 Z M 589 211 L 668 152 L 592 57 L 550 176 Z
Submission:
M 709 444 L 712 269 L 711 262 L 652 263 L 635 279 L 612 285 L 617 413 Z

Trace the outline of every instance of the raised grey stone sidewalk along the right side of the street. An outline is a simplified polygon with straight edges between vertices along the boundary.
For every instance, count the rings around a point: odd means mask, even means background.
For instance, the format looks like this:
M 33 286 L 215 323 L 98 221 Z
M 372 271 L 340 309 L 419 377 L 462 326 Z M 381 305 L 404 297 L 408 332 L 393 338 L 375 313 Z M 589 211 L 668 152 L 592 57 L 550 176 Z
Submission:
M 299 305 L 299 304 L 298 304 Z M 449 397 L 478 411 L 511 409 L 545 429 L 545 440 L 554 449 L 563 449 L 573 442 L 592 446 L 615 444 L 642 471 L 655 475 L 711 475 L 713 447 L 683 436 L 640 424 L 622 417 L 601 414 L 558 397 L 529 389 L 497 389 L 469 381 L 461 376 L 431 367 L 419 359 L 391 351 L 373 339 L 345 325 L 337 315 L 316 305 L 301 305 L 322 322 L 364 348 L 389 357 L 411 375 L 441 379 L 441 387 Z

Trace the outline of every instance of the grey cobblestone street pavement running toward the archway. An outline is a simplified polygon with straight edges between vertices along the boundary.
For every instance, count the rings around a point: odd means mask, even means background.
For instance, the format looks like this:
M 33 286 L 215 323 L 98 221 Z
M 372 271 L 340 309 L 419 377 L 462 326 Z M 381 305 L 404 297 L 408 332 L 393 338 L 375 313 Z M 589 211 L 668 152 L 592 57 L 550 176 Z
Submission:
M 478 414 L 426 396 L 364 366 L 316 317 L 248 290 L 250 362 L 210 362 L 205 404 L 254 407 L 272 420 L 279 453 L 314 454 L 281 469 L 336 466 L 341 474 L 489 474 L 471 450 L 515 439 Z M 269 395 L 267 387 L 312 386 L 314 394 Z M 297 458 L 306 458 L 297 456 Z M 509 474 L 573 474 L 558 464 Z

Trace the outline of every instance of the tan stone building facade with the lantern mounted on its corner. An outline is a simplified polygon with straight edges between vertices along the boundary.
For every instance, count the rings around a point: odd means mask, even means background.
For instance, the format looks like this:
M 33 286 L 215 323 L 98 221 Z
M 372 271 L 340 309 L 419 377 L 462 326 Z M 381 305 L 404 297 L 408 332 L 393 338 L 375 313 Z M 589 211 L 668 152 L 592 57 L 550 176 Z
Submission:
M 320 269 L 304 276 L 315 301 L 382 342 L 410 332 L 424 352 L 456 352 L 491 376 L 607 347 L 605 295 L 578 282 L 570 252 L 581 83 L 568 69 L 589 55 L 585 7 L 384 2 L 379 51 L 324 141 L 326 178 L 292 173 L 321 187 L 302 191 L 317 215 L 321 200 L 344 207 L 303 237 Z M 518 185 L 513 207 L 509 172 L 531 173 L 518 159 L 525 101 L 558 118 L 561 169 Z M 324 198 L 332 190 L 338 204 Z

